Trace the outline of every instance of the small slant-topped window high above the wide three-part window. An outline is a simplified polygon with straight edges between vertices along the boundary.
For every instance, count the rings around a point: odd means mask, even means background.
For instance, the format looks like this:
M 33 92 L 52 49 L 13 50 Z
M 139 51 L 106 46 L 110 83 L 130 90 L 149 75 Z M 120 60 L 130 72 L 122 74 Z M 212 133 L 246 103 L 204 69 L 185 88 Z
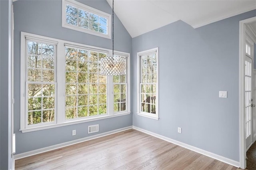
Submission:
M 62 26 L 104 38 L 110 37 L 110 14 L 74 0 L 62 0 Z

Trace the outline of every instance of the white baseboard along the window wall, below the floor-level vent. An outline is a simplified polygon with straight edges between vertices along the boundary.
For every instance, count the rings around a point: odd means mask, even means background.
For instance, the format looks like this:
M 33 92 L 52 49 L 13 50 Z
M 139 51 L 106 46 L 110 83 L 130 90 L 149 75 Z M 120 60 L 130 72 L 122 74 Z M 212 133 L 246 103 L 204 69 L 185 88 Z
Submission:
M 80 142 L 85 142 L 87 140 L 92 140 L 92 139 L 95 139 L 95 138 L 100 138 L 100 137 L 107 136 L 107 135 L 110 135 L 110 134 L 122 132 L 122 131 L 128 130 L 128 129 L 132 129 L 132 126 L 124 127 L 124 128 L 119 128 L 119 129 L 112 130 L 112 131 L 109 131 L 109 132 L 104 132 L 104 133 L 96 134 L 96 135 L 93 135 L 93 136 L 88 136 L 88 137 L 85 137 L 85 138 L 80 138 L 80 139 L 77 139 L 77 140 L 72 140 L 72 141 L 69 141 L 69 142 L 64 142 L 64 143 L 61 143 L 61 144 L 56 144 L 56 145 L 48 146 L 48 147 L 45 147 L 45 148 L 31 150 L 31 151 L 20 153 L 20 154 L 15 154 L 14 155 L 14 160 L 20 159 L 20 158 L 25 158 L 25 157 L 32 156 L 32 155 L 35 155 L 35 154 L 40 154 L 40 153 L 43 153 L 43 152 L 48 152 L 50 150 L 62 148 L 62 147 L 65 147 L 65 146 L 70 146 L 72 144 L 77 144 L 77 143 L 80 143 Z

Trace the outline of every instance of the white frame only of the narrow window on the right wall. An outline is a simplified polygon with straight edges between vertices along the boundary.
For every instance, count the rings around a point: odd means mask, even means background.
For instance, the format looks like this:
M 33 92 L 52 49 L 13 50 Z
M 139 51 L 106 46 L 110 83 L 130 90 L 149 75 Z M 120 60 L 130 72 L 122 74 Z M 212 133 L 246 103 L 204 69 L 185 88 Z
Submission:
M 146 112 L 142 112 L 140 111 L 140 100 L 141 100 L 141 89 L 140 89 L 140 84 L 141 84 L 141 56 L 142 55 L 148 55 L 148 54 L 152 54 L 155 53 L 156 54 L 156 114 L 153 113 L 146 113 Z M 140 51 L 137 53 L 137 114 L 139 116 L 143 116 L 143 117 L 148 117 L 151 119 L 155 119 L 158 120 L 159 119 L 159 115 L 158 115 L 158 103 L 159 103 L 159 95 L 158 95 L 158 84 L 159 84 L 159 69 L 158 69 L 158 47 L 153 48 L 153 49 L 148 49 L 145 51 Z

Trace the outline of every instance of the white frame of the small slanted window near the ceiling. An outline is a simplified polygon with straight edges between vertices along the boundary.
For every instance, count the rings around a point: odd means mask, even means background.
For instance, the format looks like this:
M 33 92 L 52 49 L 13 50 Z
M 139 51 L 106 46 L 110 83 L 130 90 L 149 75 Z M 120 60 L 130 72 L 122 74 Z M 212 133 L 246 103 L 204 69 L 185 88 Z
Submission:
M 102 16 L 104 18 L 107 18 L 107 20 L 108 20 L 107 34 L 103 34 L 103 33 L 100 33 L 100 32 L 96 32 L 96 31 L 93 31 L 93 30 L 81 28 L 81 27 L 70 25 L 70 24 L 66 23 L 66 5 L 67 4 L 71 5 L 71 6 L 74 6 L 76 8 L 80 8 L 82 10 L 91 12 L 91 13 L 96 14 L 98 16 Z M 85 32 L 85 33 L 92 34 L 92 35 L 95 35 L 95 36 L 100 36 L 100 37 L 103 37 L 103 38 L 111 39 L 111 29 L 112 29 L 111 28 L 111 15 L 106 13 L 106 12 L 102 12 L 100 10 L 97 10 L 95 8 L 87 6 L 85 4 L 82 4 L 80 2 L 77 2 L 75 0 L 62 0 L 62 27 L 69 28 L 69 29 L 76 30 L 76 31 L 80 31 L 80 32 Z

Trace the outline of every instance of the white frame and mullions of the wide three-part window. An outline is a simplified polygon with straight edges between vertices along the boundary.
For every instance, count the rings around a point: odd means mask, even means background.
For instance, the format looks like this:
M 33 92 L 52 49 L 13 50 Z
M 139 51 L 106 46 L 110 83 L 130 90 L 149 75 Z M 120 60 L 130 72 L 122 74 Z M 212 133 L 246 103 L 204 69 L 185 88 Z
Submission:
M 43 42 L 54 42 L 56 43 L 56 49 L 55 53 L 56 55 L 56 72 L 55 72 L 55 83 L 56 91 L 56 112 L 55 112 L 55 122 L 47 125 L 42 124 L 35 124 L 33 126 L 26 126 L 26 37 L 29 37 L 30 40 L 40 40 Z M 30 34 L 26 32 L 21 32 L 21 48 L 20 48 L 20 130 L 22 132 L 31 132 L 36 130 L 42 130 L 42 129 L 48 129 L 48 128 L 54 128 L 54 127 L 62 127 L 66 125 L 74 125 L 78 123 L 84 123 L 84 122 L 90 122 L 90 121 L 97 121 L 101 119 L 108 119 L 111 117 L 118 117 L 122 115 L 128 115 L 130 114 L 130 53 L 122 52 L 122 51 L 114 51 L 114 55 L 122 55 L 126 56 L 126 78 L 127 78 L 127 102 L 126 102 L 126 111 L 125 112 L 116 112 L 114 113 L 114 95 L 113 95 L 113 77 L 109 76 L 108 82 L 107 82 L 107 114 L 104 115 L 97 115 L 92 117 L 82 117 L 79 119 L 66 119 L 65 118 L 65 62 L 66 60 L 63 59 L 61 56 L 65 56 L 65 44 L 73 45 L 74 47 L 82 47 L 86 49 L 94 49 L 99 51 L 106 51 L 108 55 L 112 54 L 111 49 L 105 49 L 101 47 L 95 47 L 91 45 L 84 45 L 81 43 L 74 43 L 64 40 L 59 40 L 55 38 L 49 38 L 44 36 L 38 36 L 35 34 Z

